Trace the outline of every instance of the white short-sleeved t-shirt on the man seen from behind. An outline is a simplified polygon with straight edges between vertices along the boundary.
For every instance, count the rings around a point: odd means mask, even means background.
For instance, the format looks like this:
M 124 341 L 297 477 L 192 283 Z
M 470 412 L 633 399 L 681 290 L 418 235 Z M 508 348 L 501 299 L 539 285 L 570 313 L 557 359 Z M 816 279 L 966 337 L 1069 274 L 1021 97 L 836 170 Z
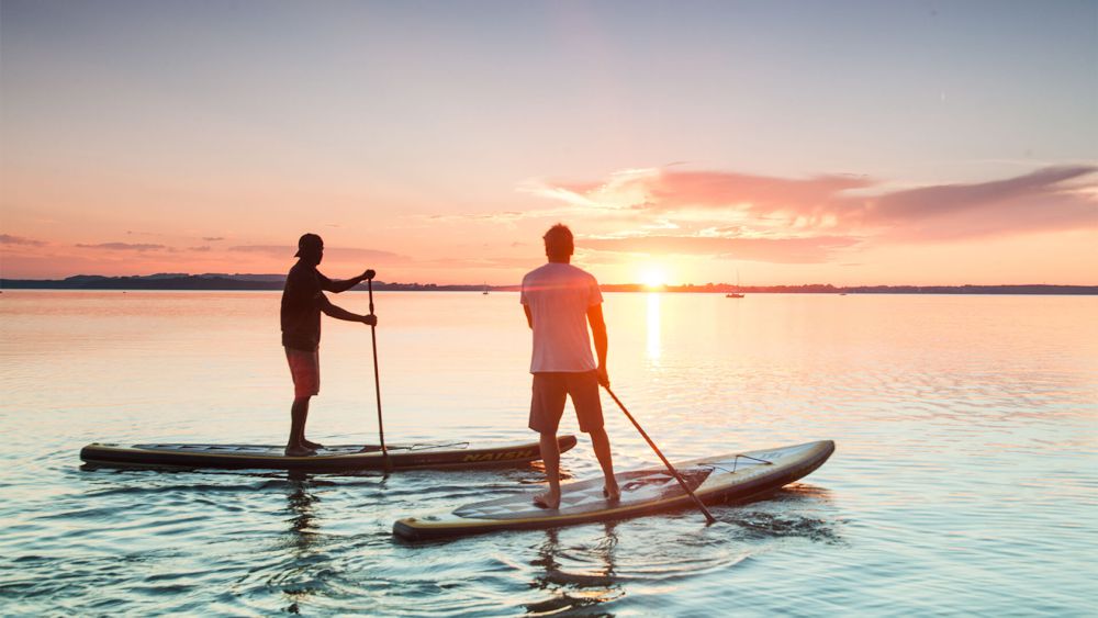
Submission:
M 570 263 L 549 262 L 523 278 L 519 302 L 534 315 L 530 373 L 591 371 L 587 310 L 603 302 L 598 282 Z

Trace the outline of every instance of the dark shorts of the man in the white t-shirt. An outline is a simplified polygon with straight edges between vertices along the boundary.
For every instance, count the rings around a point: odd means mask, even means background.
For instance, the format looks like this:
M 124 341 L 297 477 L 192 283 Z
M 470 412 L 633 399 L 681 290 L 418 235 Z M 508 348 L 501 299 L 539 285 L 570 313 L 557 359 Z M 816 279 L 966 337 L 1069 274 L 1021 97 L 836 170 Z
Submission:
M 530 401 L 530 429 L 557 432 L 564 415 L 564 398 L 572 397 L 580 431 L 590 434 L 603 427 L 603 404 L 598 401 L 598 373 L 595 371 L 547 371 L 534 374 Z

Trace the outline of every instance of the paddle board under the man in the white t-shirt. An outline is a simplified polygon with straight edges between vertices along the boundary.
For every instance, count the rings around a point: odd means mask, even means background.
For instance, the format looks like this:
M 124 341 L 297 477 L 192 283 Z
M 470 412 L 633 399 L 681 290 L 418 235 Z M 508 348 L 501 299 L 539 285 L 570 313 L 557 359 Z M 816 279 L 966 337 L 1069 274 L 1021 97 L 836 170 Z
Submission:
M 707 457 L 674 464 L 695 495 L 706 503 L 747 499 L 792 483 L 824 464 L 834 452 L 825 440 L 792 447 Z M 603 495 L 603 480 L 562 486 L 560 508 L 534 505 L 531 494 L 468 504 L 449 513 L 407 517 L 393 533 L 407 540 L 479 535 L 496 530 L 557 528 L 626 519 L 693 504 L 666 468 L 616 474 L 621 498 Z

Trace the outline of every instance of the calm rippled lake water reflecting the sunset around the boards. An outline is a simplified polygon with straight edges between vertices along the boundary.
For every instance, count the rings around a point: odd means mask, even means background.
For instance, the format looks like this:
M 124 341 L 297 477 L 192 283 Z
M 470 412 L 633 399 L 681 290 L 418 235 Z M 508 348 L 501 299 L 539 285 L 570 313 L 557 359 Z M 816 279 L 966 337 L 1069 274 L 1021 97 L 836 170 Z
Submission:
M 534 438 L 516 294 L 376 301 L 390 441 Z M 607 294 L 605 312 L 615 391 L 673 460 L 836 454 L 709 527 L 406 544 L 396 518 L 533 492 L 537 469 L 81 470 L 97 440 L 284 441 L 278 293 L 5 290 L 0 614 L 1096 614 L 1098 297 Z M 374 441 L 369 329 L 328 319 L 322 368 L 310 436 Z M 607 418 L 619 469 L 656 460 Z M 597 474 L 585 439 L 563 464 Z

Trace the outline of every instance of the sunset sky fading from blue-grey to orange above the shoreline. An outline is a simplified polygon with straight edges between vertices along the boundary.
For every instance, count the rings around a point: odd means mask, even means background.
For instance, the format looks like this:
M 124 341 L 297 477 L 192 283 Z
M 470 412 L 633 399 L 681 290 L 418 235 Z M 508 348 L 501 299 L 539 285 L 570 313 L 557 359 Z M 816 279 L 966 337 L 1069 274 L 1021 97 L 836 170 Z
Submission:
M 0 274 L 1098 284 L 1098 2 L 0 4 Z

